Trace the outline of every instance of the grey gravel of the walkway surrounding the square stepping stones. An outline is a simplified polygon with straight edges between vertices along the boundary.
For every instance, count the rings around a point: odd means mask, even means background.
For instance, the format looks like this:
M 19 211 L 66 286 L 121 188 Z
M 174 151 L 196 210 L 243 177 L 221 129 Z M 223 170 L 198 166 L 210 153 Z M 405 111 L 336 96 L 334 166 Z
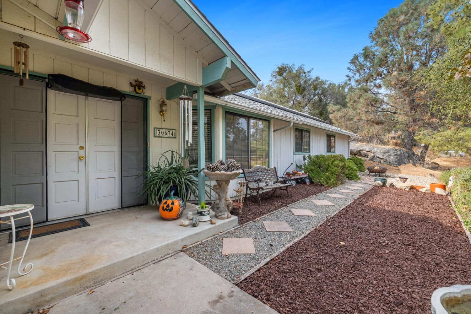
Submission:
M 309 232 L 312 228 L 322 224 L 325 219 L 333 216 L 350 202 L 365 193 L 371 186 L 366 185 L 356 193 L 342 193 L 339 189 L 349 190 L 346 186 L 358 184 L 357 181 L 348 181 L 344 185 L 319 193 L 315 196 L 298 201 L 288 207 L 261 217 L 234 230 L 216 235 L 208 240 L 189 247 L 185 253 L 211 269 L 216 274 L 226 278 L 230 282 L 236 281 L 241 275 L 259 265 L 264 259 L 270 257 L 278 250 L 284 248 L 290 242 Z M 346 198 L 332 198 L 329 194 L 341 194 Z M 316 200 L 328 200 L 335 205 L 316 205 Z M 256 209 L 256 208 L 255 208 Z M 316 217 L 295 216 L 291 209 L 311 209 Z M 291 226 L 292 232 L 267 232 L 262 221 L 286 221 Z M 256 254 L 229 254 L 222 255 L 222 242 L 224 238 L 253 238 Z

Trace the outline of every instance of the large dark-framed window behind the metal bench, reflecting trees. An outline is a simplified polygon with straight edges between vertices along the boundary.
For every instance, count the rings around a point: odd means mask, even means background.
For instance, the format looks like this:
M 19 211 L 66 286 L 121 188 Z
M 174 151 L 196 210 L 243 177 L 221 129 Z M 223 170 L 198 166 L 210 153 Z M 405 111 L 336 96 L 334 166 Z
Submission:
M 266 120 L 226 113 L 226 159 L 235 159 L 243 169 L 269 167 L 268 133 Z

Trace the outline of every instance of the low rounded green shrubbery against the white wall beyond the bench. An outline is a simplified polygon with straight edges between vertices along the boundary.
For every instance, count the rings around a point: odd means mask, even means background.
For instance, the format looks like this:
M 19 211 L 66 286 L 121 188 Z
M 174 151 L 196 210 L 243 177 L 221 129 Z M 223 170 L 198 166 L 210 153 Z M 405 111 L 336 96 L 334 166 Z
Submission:
M 306 155 L 300 167 L 313 183 L 328 187 L 341 185 L 347 178 L 359 180 L 357 166 L 343 155 Z

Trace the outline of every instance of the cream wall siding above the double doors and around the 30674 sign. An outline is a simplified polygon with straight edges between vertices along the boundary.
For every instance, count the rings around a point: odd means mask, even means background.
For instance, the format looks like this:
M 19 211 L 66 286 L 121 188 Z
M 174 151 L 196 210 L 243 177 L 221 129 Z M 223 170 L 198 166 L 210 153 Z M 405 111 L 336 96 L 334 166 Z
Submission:
M 13 41 L 0 34 L 0 64 L 9 67 L 13 66 Z M 136 75 L 133 73 L 122 73 L 100 68 L 92 64 L 82 63 L 62 56 L 52 55 L 48 52 L 30 48 L 30 71 L 48 74 L 62 73 L 73 78 L 90 82 L 92 84 L 109 86 L 122 91 L 131 91 L 130 82 L 134 83 Z M 153 128 L 177 129 L 179 132 L 179 106 L 176 101 L 167 100 L 168 110 L 165 114 L 165 122 L 159 114 L 159 100 L 165 98 L 166 88 L 158 81 L 144 80 L 146 85 L 145 96 L 150 96 L 149 100 L 149 121 L 150 133 L 150 163 L 155 164 L 160 154 L 168 150 L 179 150 L 178 138 L 161 138 L 153 136 Z M 138 95 L 136 95 L 138 96 Z

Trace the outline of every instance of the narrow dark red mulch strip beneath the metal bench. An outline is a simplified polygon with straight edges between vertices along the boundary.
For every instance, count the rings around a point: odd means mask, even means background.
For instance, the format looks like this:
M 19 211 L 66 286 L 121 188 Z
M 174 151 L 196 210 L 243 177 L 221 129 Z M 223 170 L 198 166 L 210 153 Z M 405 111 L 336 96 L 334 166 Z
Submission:
M 306 197 L 316 195 L 318 193 L 327 191 L 329 188 L 322 185 L 305 185 L 297 184 L 295 186 L 288 186 L 290 196 L 286 195 L 286 191 L 276 189 L 276 192 L 271 191 L 260 194 L 261 205 L 256 195 L 248 196 L 244 201 L 241 215 L 239 216 L 239 225 L 242 225 L 255 218 L 261 217 L 276 209 L 280 209 L 286 205 L 300 201 Z M 232 212 L 237 216 L 237 211 Z

